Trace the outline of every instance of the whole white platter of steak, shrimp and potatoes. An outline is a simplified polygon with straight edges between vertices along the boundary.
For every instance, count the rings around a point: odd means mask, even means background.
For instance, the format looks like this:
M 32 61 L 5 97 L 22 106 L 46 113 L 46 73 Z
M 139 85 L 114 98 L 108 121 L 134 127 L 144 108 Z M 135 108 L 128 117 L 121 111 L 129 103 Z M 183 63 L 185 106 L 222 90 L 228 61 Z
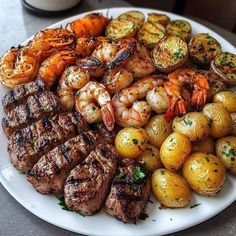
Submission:
M 0 58 L 0 181 L 86 235 L 163 235 L 236 200 L 236 50 L 142 8 L 86 12 Z

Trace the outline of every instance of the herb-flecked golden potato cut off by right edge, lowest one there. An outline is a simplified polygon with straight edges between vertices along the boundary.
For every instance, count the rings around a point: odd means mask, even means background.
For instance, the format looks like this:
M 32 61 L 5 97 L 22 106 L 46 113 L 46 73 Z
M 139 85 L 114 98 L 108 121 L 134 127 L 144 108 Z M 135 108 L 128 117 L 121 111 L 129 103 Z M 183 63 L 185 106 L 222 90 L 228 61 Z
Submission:
M 231 174 L 236 175 L 236 137 L 227 136 L 216 141 L 216 155 Z

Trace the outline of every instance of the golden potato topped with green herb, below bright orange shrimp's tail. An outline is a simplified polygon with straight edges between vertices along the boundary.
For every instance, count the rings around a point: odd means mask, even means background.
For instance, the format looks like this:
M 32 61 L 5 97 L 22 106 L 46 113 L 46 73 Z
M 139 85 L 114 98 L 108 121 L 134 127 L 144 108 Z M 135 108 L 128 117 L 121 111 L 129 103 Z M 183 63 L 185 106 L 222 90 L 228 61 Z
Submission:
M 204 139 L 210 134 L 209 119 L 201 112 L 189 112 L 182 117 L 175 117 L 172 128 L 191 141 Z

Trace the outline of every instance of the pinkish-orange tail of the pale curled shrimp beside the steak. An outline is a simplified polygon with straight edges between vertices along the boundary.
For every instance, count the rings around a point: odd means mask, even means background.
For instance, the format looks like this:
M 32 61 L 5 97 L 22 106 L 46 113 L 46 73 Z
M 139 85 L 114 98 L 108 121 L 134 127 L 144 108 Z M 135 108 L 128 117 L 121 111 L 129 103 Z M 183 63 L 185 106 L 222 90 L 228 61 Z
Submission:
M 115 117 L 114 117 L 112 103 L 108 102 L 108 103 L 106 103 L 106 105 L 102 106 L 101 112 L 102 112 L 102 119 L 103 119 L 103 122 L 104 122 L 106 128 L 109 131 L 112 131 L 114 129 L 114 125 L 115 125 Z

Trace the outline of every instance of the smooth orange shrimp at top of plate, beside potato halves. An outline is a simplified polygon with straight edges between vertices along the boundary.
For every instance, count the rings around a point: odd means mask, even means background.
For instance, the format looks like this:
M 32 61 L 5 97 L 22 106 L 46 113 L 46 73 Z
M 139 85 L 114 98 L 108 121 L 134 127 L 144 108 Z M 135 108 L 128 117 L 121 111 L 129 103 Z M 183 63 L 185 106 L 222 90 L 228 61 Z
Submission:
M 81 36 L 100 36 L 105 31 L 109 19 L 100 13 L 90 13 L 83 18 L 72 21 L 66 26 L 76 38 Z

